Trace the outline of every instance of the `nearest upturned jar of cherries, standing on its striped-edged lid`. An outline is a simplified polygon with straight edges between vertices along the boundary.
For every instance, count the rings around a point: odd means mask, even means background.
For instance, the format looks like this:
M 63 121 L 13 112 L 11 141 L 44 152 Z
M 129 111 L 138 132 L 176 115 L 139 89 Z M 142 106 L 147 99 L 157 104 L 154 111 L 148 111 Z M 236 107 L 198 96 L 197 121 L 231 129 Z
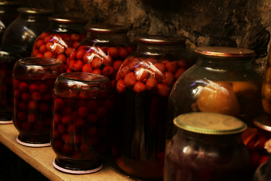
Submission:
M 113 89 L 110 80 L 91 73 L 64 73 L 54 86 L 51 146 L 53 165 L 73 174 L 102 168 L 112 127 Z

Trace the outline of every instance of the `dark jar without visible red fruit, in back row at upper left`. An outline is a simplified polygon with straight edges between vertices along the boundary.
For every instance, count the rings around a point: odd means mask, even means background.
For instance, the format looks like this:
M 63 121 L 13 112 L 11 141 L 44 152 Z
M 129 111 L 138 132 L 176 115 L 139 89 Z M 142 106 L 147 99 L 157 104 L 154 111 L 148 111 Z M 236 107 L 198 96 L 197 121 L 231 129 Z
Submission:
M 18 8 L 19 17 L 7 27 L 2 38 L 2 44 L 25 46 L 28 57 L 31 48 L 38 37 L 49 26 L 48 17 L 51 10 L 36 8 Z

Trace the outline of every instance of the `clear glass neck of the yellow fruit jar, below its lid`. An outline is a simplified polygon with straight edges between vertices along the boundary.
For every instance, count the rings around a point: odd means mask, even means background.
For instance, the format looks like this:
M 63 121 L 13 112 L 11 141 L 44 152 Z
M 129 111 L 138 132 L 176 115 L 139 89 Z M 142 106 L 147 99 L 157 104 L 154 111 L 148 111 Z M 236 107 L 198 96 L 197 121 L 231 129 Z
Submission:
M 199 56 L 196 65 L 211 70 L 249 70 L 252 69 L 252 58 L 213 58 Z

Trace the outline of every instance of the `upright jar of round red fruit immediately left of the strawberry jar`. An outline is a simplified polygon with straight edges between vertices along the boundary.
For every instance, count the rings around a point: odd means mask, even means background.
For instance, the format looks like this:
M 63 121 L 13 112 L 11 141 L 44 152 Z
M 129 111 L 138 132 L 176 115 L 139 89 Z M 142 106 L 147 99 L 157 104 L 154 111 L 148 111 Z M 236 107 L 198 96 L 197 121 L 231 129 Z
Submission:
M 114 24 L 86 25 L 86 38 L 70 56 L 67 72 L 104 75 L 115 80 L 117 70 L 134 51 L 126 33 L 128 28 Z

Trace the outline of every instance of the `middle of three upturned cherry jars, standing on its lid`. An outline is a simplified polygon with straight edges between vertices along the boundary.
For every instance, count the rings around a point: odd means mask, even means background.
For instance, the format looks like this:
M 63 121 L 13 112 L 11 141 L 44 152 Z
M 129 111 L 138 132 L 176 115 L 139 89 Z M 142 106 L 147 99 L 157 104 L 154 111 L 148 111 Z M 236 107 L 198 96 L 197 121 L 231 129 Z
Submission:
M 64 65 L 53 58 L 29 57 L 15 63 L 13 123 L 21 145 L 50 146 L 54 82 L 64 72 Z

